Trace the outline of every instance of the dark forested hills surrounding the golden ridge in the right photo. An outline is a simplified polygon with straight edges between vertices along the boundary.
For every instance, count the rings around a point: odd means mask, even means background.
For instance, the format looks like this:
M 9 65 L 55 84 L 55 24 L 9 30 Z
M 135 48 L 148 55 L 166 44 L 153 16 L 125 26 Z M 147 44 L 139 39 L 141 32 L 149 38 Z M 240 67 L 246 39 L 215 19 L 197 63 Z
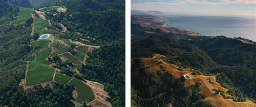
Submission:
M 138 26 L 137 26 L 138 27 Z M 181 87 L 184 78 L 169 78 L 170 73 L 165 73 L 163 66 L 160 71 L 152 73 L 149 66 L 142 63 L 141 58 L 152 58 L 154 54 L 165 55 L 166 62 L 177 65 L 178 67 L 193 68 L 192 74 L 195 75 L 215 75 L 221 86 L 228 89 L 234 102 L 245 102 L 250 99 L 255 102 L 255 60 L 256 48 L 253 42 L 243 42 L 242 38 L 227 38 L 225 36 L 206 37 L 206 36 L 189 36 L 184 34 L 173 34 L 161 31 L 160 29 L 137 28 L 133 24 L 132 28 L 132 45 L 131 45 L 131 79 L 132 79 L 132 102 L 133 106 L 147 106 L 147 104 L 159 104 L 160 106 L 171 103 L 173 106 L 212 106 L 208 102 L 201 102 L 204 99 L 202 95 L 199 99 L 177 100 L 182 95 L 179 90 L 190 90 L 193 94 L 198 94 L 198 87 Z M 157 28 L 157 27 L 156 27 Z M 148 32 L 150 31 L 150 32 Z M 151 31 L 157 31 L 152 34 Z M 180 35 L 180 37 L 178 37 Z M 164 73 L 164 74 L 163 74 Z M 171 77 L 172 75 L 170 75 Z M 166 80 L 167 79 L 167 80 Z M 180 81 L 169 83 L 170 81 Z M 169 84 L 165 84 L 168 82 Z M 177 85 L 179 84 L 179 85 Z M 169 87 L 169 88 L 167 88 Z M 175 88 L 173 88 L 175 87 Z M 169 90 L 165 90 L 165 88 Z M 173 89 L 172 89 L 173 88 Z M 145 91 L 146 90 L 146 91 Z M 170 92 L 170 93 L 169 93 Z M 165 96 L 168 93 L 171 96 Z M 199 92 L 200 93 L 200 92 Z M 190 96 L 184 92 L 184 96 Z M 198 95 L 196 95 L 198 96 Z M 171 101 L 168 101 L 172 99 Z M 186 98 L 180 98 L 186 99 Z M 182 105 L 182 104 L 185 105 Z M 178 105 L 177 105 L 178 104 Z M 197 105 L 200 104 L 200 105 Z M 158 106 L 158 105 L 156 105 Z

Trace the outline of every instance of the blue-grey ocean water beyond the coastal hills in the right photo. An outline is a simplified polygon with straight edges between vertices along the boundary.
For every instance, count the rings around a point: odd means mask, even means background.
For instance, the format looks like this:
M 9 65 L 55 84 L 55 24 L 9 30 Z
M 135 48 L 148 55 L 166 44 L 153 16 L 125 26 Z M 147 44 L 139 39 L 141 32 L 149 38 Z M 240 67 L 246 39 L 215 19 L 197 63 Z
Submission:
M 177 27 L 204 35 L 226 35 L 256 41 L 256 18 L 226 16 L 172 16 L 163 17 L 166 27 Z

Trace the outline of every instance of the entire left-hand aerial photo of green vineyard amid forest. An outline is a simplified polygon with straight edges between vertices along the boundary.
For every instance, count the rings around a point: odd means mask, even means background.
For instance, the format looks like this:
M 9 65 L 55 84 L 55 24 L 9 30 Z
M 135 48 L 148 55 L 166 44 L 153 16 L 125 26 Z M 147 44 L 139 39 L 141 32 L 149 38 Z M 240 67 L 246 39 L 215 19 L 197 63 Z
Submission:
M 0 106 L 124 106 L 124 8 L 0 1 Z

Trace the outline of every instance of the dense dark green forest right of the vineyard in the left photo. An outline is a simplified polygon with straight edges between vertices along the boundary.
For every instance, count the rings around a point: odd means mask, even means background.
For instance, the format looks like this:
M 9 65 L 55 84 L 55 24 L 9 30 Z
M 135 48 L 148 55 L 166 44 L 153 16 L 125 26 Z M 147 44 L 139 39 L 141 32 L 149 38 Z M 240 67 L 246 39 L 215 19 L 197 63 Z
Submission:
M 63 23 L 68 31 L 83 33 L 66 38 L 91 40 L 99 44 L 82 70 L 86 79 L 99 81 L 109 92 L 113 106 L 125 104 L 125 1 L 65 1 L 65 15 L 51 19 Z M 89 38 L 88 38 L 89 37 Z M 93 39 L 90 39 L 93 38 Z

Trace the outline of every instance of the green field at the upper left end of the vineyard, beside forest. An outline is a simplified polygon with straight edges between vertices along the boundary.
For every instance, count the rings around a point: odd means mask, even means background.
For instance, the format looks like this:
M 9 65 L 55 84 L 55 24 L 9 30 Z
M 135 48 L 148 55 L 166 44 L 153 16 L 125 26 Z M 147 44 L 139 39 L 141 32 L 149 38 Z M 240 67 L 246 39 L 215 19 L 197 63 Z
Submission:
M 31 18 L 32 8 L 19 8 L 18 19 L 11 22 L 11 24 L 21 24 L 26 22 L 29 18 Z

